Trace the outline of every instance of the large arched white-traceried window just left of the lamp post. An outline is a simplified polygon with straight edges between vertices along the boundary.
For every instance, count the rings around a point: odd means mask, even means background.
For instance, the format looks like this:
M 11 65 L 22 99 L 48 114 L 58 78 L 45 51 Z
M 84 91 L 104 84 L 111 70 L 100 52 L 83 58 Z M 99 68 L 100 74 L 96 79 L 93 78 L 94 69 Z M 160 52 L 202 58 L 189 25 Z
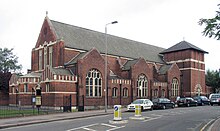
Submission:
M 92 69 L 86 75 L 86 96 L 102 96 L 102 78 L 101 73 Z

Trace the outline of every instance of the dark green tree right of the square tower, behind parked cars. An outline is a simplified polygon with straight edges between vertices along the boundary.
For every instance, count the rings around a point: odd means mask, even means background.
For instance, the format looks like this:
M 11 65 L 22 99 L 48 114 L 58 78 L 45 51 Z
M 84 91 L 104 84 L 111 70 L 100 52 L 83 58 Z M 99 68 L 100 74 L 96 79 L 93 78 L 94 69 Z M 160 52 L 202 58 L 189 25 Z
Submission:
M 214 88 L 214 91 L 219 91 L 220 89 L 220 76 L 219 72 L 216 71 L 210 71 L 207 70 L 206 76 L 205 76 L 205 81 L 207 86 L 211 86 Z

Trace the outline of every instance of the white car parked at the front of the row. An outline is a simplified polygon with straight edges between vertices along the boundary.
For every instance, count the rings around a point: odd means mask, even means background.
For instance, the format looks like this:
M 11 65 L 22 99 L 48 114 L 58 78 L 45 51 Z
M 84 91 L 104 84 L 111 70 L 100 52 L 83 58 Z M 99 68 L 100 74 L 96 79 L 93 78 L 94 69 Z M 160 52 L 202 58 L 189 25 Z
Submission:
M 135 105 L 141 105 L 141 110 L 153 110 L 153 103 L 149 99 L 136 99 L 127 106 L 127 111 L 135 111 Z

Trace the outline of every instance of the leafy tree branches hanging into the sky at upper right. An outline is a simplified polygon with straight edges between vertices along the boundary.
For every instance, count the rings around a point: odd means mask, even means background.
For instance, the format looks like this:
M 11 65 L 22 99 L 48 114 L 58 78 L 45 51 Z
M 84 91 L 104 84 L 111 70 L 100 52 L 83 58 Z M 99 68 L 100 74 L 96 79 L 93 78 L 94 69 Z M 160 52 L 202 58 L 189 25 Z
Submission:
M 217 40 L 220 40 L 220 4 L 219 11 L 216 11 L 216 16 L 210 19 L 201 18 L 199 20 L 199 25 L 205 25 L 203 30 L 203 35 L 208 36 L 209 38 L 214 37 Z

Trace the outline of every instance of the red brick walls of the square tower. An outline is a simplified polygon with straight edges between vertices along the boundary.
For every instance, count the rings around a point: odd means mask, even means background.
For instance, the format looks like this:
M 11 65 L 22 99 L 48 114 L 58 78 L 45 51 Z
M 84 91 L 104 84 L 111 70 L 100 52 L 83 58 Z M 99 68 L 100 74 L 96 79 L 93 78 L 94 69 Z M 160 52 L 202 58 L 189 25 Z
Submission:
M 181 70 L 183 76 L 183 91 L 185 92 L 186 96 L 195 95 L 193 94 L 193 92 L 195 90 L 196 84 L 198 83 L 202 86 L 202 91 L 205 91 L 205 72 L 200 71 L 199 73 L 199 71 L 197 70 L 205 70 L 205 64 L 198 62 L 198 60 L 204 62 L 204 53 L 195 50 L 184 50 L 180 52 L 167 53 L 164 55 L 164 59 L 167 62 L 186 59 L 195 60 L 177 63 L 180 69 L 184 69 Z

